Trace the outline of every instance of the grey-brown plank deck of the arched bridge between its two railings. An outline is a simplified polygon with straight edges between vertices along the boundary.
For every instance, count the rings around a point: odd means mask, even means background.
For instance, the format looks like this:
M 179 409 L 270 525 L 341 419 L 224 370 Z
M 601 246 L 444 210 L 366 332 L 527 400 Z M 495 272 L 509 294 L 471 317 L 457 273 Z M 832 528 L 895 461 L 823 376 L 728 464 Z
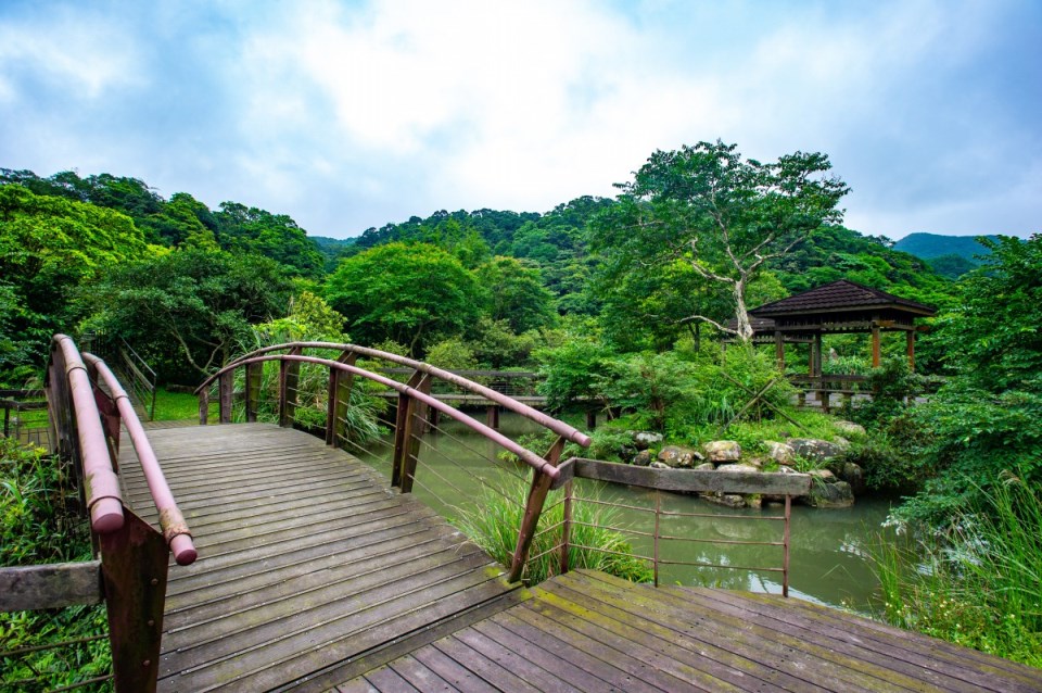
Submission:
M 150 429 L 200 553 L 170 566 L 161 691 L 291 688 L 385 662 L 374 653 L 497 610 L 513 590 L 432 511 L 317 438 L 263 424 Z M 155 522 L 128 441 L 120 452 L 126 500 Z

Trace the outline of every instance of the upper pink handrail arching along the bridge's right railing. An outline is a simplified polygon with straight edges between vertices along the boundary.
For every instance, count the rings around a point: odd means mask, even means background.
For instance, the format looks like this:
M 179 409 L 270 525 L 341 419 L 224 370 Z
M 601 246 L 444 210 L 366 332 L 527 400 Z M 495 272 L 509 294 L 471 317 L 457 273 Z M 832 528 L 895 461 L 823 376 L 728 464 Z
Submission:
M 547 428 L 554 431 L 555 433 L 564 438 L 566 440 L 570 440 L 573 443 L 577 443 L 583 448 L 588 448 L 590 443 L 589 437 L 586 433 L 583 433 L 582 431 L 580 431 L 579 429 L 573 428 L 568 424 L 566 424 L 564 421 L 554 418 L 552 416 L 547 416 L 543 412 L 532 408 L 526 404 L 522 404 L 521 402 L 518 402 L 517 400 L 506 394 L 503 394 L 501 392 L 496 392 L 492 388 L 487 388 L 483 385 L 479 385 L 472 380 L 468 380 L 467 378 L 460 377 L 449 370 L 437 368 L 436 366 L 432 366 L 430 364 L 425 364 L 420 361 L 414 361 L 412 358 L 408 358 L 406 356 L 398 356 L 397 354 L 392 354 L 385 351 L 379 351 L 377 349 L 369 349 L 368 346 L 358 346 L 356 344 L 334 344 L 330 342 L 288 342 L 284 344 L 276 344 L 274 346 L 266 346 L 264 349 L 258 349 L 256 351 L 250 352 L 249 354 L 245 354 L 237 358 L 236 361 L 232 361 L 231 363 L 226 365 L 224 368 L 221 368 L 219 371 L 208 377 L 201 386 L 199 386 L 199 388 L 195 389 L 195 394 L 199 394 L 200 392 L 202 392 L 204 388 L 209 387 L 221 374 L 227 373 L 228 370 L 233 369 L 238 366 L 244 365 L 252 358 L 255 358 L 263 354 L 270 353 L 272 351 L 284 351 L 290 349 L 338 350 L 342 352 L 355 353 L 355 354 L 358 354 L 359 356 L 367 356 L 369 358 L 380 358 L 382 361 L 390 361 L 392 363 L 407 366 L 415 370 L 419 370 L 420 373 L 425 373 L 431 376 L 434 376 L 435 378 L 441 378 L 442 380 L 450 382 L 466 390 L 470 390 L 471 392 L 481 394 L 482 396 L 488 399 L 492 402 L 495 402 L 496 404 L 503 406 L 504 408 L 510 410 L 516 414 L 520 414 L 521 416 L 530 420 L 533 420 L 536 424 L 539 424 L 544 428 Z M 329 363 L 329 362 L 323 362 L 323 363 Z M 397 381 L 389 380 L 389 382 L 397 382 Z M 401 385 L 401 383 L 397 383 L 397 385 Z M 395 389 L 397 390 L 398 388 L 395 388 Z M 398 390 L 398 391 L 404 392 L 404 390 Z M 421 399 L 421 398 L 417 398 L 417 399 Z M 430 404 L 425 400 L 423 401 Z M 434 405 L 431 405 L 431 406 L 434 406 Z M 439 408 L 439 411 L 445 411 L 445 410 L 441 410 L 441 407 L 435 407 L 435 408 Z M 445 411 L 445 413 L 448 414 L 447 411 Z M 452 414 L 449 415 L 452 416 Z

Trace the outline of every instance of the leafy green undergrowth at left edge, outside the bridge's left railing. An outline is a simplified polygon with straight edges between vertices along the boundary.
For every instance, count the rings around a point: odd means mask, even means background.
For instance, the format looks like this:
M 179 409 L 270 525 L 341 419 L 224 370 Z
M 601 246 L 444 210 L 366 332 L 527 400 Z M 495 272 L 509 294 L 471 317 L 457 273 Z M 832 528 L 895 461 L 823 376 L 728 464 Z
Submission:
M 0 438 L 0 566 L 90 560 L 78 508 L 79 494 L 58 458 Z M 50 691 L 106 675 L 107 639 L 9 654 L 100 635 L 105 625 L 103 605 L 0 614 L 0 691 Z M 78 690 L 111 690 L 111 683 Z

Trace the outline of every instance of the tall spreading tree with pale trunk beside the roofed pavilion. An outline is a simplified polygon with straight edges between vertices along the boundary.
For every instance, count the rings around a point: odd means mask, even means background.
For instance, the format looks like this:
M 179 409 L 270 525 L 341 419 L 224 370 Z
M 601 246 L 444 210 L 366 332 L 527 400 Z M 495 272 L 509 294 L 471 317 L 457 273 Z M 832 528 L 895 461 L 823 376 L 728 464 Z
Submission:
M 633 181 L 620 186 L 619 204 L 594 225 L 595 245 L 615 262 L 653 272 L 676 260 L 728 288 L 737 328 L 752 337 L 747 289 L 772 260 L 783 257 L 823 225 L 839 222 L 849 188 L 828 156 L 796 152 L 774 163 L 744 160 L 735 144 L 699 142 L 655 152 Z

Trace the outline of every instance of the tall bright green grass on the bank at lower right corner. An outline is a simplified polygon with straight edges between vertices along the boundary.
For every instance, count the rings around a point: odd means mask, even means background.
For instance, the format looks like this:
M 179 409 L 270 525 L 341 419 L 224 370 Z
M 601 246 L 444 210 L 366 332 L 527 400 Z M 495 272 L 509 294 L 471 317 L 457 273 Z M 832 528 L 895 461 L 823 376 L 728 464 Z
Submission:
M 890 623 L 1042 667 L 1042 492 L 1020 478 L 977 513 L 915 542 L 880 542 L 875 570 Z

